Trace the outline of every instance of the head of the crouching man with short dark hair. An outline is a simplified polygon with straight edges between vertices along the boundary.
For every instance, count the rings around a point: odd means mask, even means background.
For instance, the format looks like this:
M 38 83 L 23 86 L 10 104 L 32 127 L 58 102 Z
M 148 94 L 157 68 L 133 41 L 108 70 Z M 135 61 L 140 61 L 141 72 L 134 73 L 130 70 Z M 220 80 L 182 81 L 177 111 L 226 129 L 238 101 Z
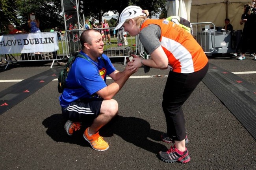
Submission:
M 99 57 L 104 51 L 104 42 L 102 41 L 102 35 L 99 32 L 92 32 L 91 44 L 88 44 L 89 52 L 93 57 Z

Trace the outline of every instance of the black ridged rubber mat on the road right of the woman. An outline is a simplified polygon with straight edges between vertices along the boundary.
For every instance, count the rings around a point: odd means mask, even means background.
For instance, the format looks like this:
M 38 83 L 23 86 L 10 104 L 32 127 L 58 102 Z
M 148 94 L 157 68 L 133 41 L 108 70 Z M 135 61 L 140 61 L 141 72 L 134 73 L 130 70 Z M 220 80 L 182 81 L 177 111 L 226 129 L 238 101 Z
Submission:
M 256 86 L 213 64 L 202 81 L 256 139 Z

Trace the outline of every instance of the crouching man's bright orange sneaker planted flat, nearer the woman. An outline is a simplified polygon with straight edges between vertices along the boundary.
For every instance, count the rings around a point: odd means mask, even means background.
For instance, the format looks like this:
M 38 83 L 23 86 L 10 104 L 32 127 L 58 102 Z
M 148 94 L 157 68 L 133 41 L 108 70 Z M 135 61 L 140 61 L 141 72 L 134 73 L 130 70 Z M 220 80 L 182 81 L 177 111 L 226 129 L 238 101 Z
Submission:
M 83 138 L 90 143 L 94 150 L 104 151 L 109 148 L 109 145 L 106 141 L 103 140 L 103 137 L 99 135 L 99 132 L 89 136 L 88 134 L 89 127 L 85 129 L 83 133 Z

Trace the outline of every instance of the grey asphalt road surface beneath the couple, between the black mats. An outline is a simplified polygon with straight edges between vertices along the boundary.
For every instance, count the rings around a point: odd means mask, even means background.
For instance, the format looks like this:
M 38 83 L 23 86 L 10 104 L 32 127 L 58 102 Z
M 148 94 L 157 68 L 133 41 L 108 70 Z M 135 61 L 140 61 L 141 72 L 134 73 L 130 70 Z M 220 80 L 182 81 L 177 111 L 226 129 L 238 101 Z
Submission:
M 252 59 L 210 58 L 210 63 L 244 72 L 237 75 L 256 85 L 256 73 L 246 74 L 256 71 Z M 120 71 L 125 67 L 121 61 L 113 65 Z M 24 80 L 50 66 L 10 65 L 4 71 L 0 63 L 0 68 L 0 80 Z M 159 151 L 170 148 L 160 141 L 160 134 L 166 132 L 161 101 L 167 74 L 159 69 L 145 74 L 139 69 L 133 76 L 151 77 L 130 78 L 114 97 L 119 116 L 100 130 L 110 146 L 104 152 L 93 150 L 83 139 L 86 126 L 72 136 L 66 134 L 57 81 L 51 81 L 0 115 L 0 170 L 255 170 L 256 140 L 203 82 L 183 106 L 191 161 L 171 164 L 158 159 Z M 16 83 L 0 81 L 0 90 Z

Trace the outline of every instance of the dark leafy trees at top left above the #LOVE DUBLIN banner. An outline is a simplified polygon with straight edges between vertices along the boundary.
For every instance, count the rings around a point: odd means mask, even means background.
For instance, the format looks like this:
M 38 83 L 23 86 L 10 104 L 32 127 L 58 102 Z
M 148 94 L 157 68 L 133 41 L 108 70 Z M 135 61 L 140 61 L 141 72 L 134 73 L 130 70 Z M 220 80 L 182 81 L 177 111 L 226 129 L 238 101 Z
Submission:
M 60 0 L 1 0 L 0 19 L 2 25 L 13 23 L 28 27 L 28 16 L 34 12 L 40 21 L 40 29 L 64 27 Z

